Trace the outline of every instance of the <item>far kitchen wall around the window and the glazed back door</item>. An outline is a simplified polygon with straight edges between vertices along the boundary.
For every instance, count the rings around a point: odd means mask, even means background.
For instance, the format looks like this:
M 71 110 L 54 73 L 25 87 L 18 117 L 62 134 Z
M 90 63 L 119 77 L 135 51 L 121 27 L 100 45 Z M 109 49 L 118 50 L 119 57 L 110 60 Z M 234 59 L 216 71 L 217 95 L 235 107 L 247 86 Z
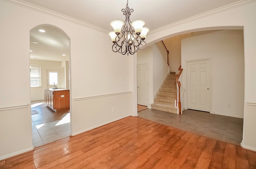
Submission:
M 47 87 L 47 70 L 59 70 L 60 71 L 60 84 L 58 87 L 62 87 L 65 84 L 64 83 L 64 75 L 62 75 L 63 68 L 61 65 L 61 62 L 58 61 L 43 61 L 43 60 L 36 60 L 36 59 L 30 59 L 30 65 L 39 65 L 40 71 L 41 71 L 41 87 L 31 87 L 31 100 L 44 100 L 44 88 Z

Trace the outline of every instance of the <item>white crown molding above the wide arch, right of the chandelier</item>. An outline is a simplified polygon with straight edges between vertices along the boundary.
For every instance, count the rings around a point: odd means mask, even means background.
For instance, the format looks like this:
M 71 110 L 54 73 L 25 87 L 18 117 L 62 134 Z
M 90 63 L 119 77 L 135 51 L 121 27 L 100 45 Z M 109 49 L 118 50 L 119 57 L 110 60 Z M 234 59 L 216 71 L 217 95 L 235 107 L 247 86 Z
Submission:
M 156 33 L 156 32 L 159 32 L 159 31 L 163 31 L 165 29 L 170 29 L 170 28 L 173 28 L 173 27 L 176 27 L 176 26 L 179 26 L 179 25 L 183 25 L 183 24 L 195 21 L 195 20 L 199 20 L 199 19 L 211 16 L 211 15 L 222 13 L 222 12 L 225 12 L 225 11 L 228 11 L 228 10 L 232 10 L 234 8 L 238 8 L 240 6 L 244 6 L 244 5 L 255 3 L 255 2 L 256 2 L 256 0 L 241 0 L 241 1 L 238 1 L 238 2 L 234 2 L 233 4 L 228 4 L 226 6 L 222 6 L 220 8 L 216 8 L 214 10 L 210 10 L 208 12 L 204 12 L 202 14 L 198 14 L 198 15 L 192 16 L 192 17 L 186 18 L 184 20 L 180 20 L 178 22 L 174 22 L 172 24 L 163 26 L 161 28 L 154 29 L 152 31 L 149 31 L 148 34 Z

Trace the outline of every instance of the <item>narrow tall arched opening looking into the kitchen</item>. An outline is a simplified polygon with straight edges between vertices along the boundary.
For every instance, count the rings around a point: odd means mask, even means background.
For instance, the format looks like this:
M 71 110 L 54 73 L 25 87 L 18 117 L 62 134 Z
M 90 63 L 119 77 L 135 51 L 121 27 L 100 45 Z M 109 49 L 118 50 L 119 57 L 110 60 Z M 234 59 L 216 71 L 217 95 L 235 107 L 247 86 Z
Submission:
M 70 38 L 52 25 L 30 30 L 34 147 L 70 136 Z

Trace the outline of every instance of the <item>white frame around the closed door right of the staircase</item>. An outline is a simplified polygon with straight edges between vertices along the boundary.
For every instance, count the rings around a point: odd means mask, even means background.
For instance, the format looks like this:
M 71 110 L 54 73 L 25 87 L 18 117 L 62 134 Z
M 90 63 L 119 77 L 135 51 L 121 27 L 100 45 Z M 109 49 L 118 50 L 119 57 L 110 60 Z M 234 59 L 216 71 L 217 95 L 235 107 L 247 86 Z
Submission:
M 187 60 L 185 61 L 185 69 L 187 67 L 188 62 L 194 62 L 194 61 L 209 61 L 210 65 L 210 113 L 212 113 L 212 58 L 204 58 L 204 59 L 193 59 L 193 60 Z M 188 109 L 188 70 L 185 71 L 185 109 Z

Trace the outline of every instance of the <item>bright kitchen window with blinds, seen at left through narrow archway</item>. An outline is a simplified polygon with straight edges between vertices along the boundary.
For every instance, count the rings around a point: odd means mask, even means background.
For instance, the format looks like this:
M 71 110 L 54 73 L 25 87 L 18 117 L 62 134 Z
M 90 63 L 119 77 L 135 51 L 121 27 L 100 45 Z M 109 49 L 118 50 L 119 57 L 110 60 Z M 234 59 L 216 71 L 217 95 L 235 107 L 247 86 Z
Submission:
M 41 87 L 41 72 L 39 65 L 30 65 L 30 87 Z

